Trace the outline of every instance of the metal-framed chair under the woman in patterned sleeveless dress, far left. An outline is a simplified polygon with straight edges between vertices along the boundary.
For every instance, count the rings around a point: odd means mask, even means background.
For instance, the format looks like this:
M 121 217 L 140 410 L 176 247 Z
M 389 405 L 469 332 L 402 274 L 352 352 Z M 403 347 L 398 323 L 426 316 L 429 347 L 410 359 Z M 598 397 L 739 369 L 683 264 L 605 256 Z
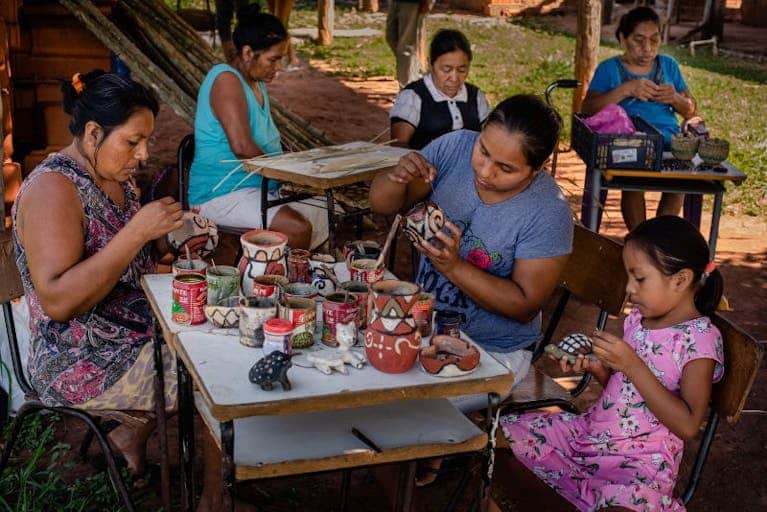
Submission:
M 78 418 L 88 427 L 89 432 L 98 439 L 101 451 L 104 453 L 104 458 L 107 462 L 107 473 L 109 479 L 112 482 L 112 486 L 120 496 L 125 509 L 128 512 L 133 512 L 135 507 L 133 501 L 128 493 L 128 489 L 120 476 L 120 471 L 115 464 L 114 454 L 109 447 L 106 435 L 99 426 L 100 420 L 89 414 L 88 412 L 77 409 L 74 407 L 51 407 L 42 403 L 37 395 L 37 392 L 29 384 L 29 381 L 24 374 L 24 367 L 21 362 L 21 354 L 19 352 L 18 338 L 16 337 L 16 328 L 13 323 L 13 310 L 11 309 L 11 301 L 21 297 L 24 293 L 21 286 L 21 278 L 19 276 L 16 263 L 11 257 L 13 254 L 13 248 L 10 240 L 10 236 L 5 233 L 0 233 L 0 242 L 2 242 L 2 253 L 0 254 L 0 275 L 3 276 L 2 285 L 0 286 L 0 300 L 3 301 L 3 320 L 5 322 L 5 330 L 8 337 L 8 344 L 11 352 L 11 359 L 13 362 L 13 373 L 16 377 L 16 381 L 24 391 L 26 401 L 19 407 L 16 413 L 16 419 L 14 420 L 13 427 L 10 430 L 8 439 L 6 440 L 5 447 L 3 449 L 2 459 L 0 459 L 0 474 L 3 473 L 5 467 L 8 464 L 8 460 L 13 452 L 13 446 L 18 439 L 19 432 L 24 423 L 24 419 L 38 411 L 51 411 L 59 413 L 65 416 L 71 416 Z M 86 437 L 88 444 L 90 444 L 91 437 Z M 87 450 L 85 441 L 83 446 Z M 82 449 L 81 449 L 82 453 Z

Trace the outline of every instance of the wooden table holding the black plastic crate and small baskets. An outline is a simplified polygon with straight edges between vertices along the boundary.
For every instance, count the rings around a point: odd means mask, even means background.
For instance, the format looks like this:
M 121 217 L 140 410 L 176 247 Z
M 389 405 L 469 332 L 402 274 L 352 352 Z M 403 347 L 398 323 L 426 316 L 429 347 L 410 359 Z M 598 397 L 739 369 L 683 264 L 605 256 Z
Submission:
M 716 254 L 716 242 L 719 233 L 719 218 L 722 214 L 722 199 L 725 192 L 724 183 L 730 181 L 740 185 L 746 179 L 746 175 L 729 162 L 721 165 L 726 172 L 714 171 L 711 168 L 703 168 L 695 165 L 700 160 L 693 160 L 689 169 L 651 171 L 647 169 L 595 169 L 587 173 L 590 179 L 590 187 L 584 191 L 584 198 L 592 194 L 592 198 L 602 199 L 602 192 L 610 189 L 634 190 L 641 192 L 671 192 L 682 194 L 694 194 L 702 196 L 713 194 L 714 208 L 711 212 L 711 229 L 709 231 L 709 250 L 711 259 Z M 589 177 L 590 176 L 590 177 Z M 592 231 L 599 231 L 599 208 L 600 201 L 590 200 L 590 206 L 586 208 L 587 218 L 584 223 Z M 586 200 L 584 199 L 584 203 Z

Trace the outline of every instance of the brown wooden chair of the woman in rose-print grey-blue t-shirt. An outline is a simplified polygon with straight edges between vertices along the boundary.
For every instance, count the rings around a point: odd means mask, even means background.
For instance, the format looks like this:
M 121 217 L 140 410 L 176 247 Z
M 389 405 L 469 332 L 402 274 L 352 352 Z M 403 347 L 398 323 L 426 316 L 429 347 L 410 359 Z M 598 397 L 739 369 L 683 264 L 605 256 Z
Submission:
M 575 225 L 573 252 L 567 261 L 559 286 L 562 295 L 557 302 L 543 339 L 533 352 L 533 362 L 543 354 L 544 347 L 551 341 L 562 318 L 570 297 L 599 308 L 597 329 L 604 329 L 608 315 L 619 315 L 623 311 L 628 275 L 623 267 L 623 245 L 594 233 L 584 226 Z M 514 412 L 558 406 L 570 412 L 577 412 L 572 398 L 580 395 L 591 381 L 591 374 L 585 373 L 578 386 L 568 393 L 554 379 L 536 367 L 531 368 L 520 385 L 502 404 L 501 408 Z

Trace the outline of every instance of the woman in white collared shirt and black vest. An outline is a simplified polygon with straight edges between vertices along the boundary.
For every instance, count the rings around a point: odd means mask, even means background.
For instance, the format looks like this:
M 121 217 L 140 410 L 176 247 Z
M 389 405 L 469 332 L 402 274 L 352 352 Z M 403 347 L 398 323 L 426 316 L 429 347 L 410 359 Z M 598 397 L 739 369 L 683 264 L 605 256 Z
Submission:
M 466 83 L 470 64 L 466 36 L 437 32 L 429 49 L 430 73 L 402 89 L 389 114 L 397 145 L 421 149 L 454 130 L 480 130 L 490 108 L 482 91 Z

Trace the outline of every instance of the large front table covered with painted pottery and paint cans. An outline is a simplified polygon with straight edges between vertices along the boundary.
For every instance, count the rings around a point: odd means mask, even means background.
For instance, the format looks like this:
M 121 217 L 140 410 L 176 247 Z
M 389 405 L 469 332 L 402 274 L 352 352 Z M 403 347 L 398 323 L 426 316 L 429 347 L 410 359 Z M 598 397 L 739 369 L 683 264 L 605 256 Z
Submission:
M 342 269 L 337 273 L 344 279 Z M 243 422 L 246 418 L 286 417 L 286 415 L 318 414 L 323 418 L 328 411 L 336 411 L 330 423 L 347 423 L 351 421 L 349 411 L 370 409 L 375 413 L 375 407 L 390 407 L 399 414 L 417 414 L 437 399 L 445 399 L 465 394 L 488 393 L 489 407 L 495 419 L 495 408 L 499 396 L 508 392 L 514 382 L 514 376 L 489 354 L 481 351 L 481 364 L 478 369 L 463 377 L 444 379 L 423 372 L 416 364 L 409 372 L 392 375 L 377 371 L 369 364 L 362 370 L 350 369 L 349 375 L 326 376 L 312 368 L 302 368 L 294 365 L 289 373 L 293 385 L 292 390 L 282 391 L 279 385 L 271 392 L 262 391 L 247 379 L 250 367 L 262 357 L 260 349 L 245 347 L 239 343 L 237 329 L 216 329 L 210 324 L 200 326 L 179 326 L 171 322 L 171 280 L 172 276 L 146 275 L 142 286 L 149 298 L 158 323 L 162 327 L 165 339 L 172 352 L 176 355 L 179 379 L 179 447 L 182 471 L 182 493 L 184 508 L 189 510 L 192 503 L 192 491 L 195 488 L 191 462 L 194 454 L 193 414 L 197 400 L 198 410 L 207 419 L 208 425 L 217 425 L 220 429 L 218 442 L 222 451 L 224 474 L 223 493 L 227 507 L 231 506 L 231 490 L 235 477 L 261 478 L 298 474 L 311 471 L 352 468 L 384 462 L 412 461 L 416 458 L 434 457 L 470 451 L 476 449 L 477 440 L 469 440 L 463 444 L 451 446 L 449 443 L 429 441 L 428 435 L 435 429 L 433 424 L 425 423 L 423 431 L 412 430 L 407 434 L 416 436 L 419 441 L 426 442 L 421 449 L 384 449 L 382 453 L 361 450 L 343 456 L 326 456 L 317 462 L 307 464 L 306 461 L 296 461 L 288 464 L 278 464 L 272 469 L 263 470 L 255 464 L 251 468 L 240 470 L 235 475 L 235 422 Z M 426 343 L 426 342 L 425 342 Z M 159 351 L 156 351 L 159 353 Z M 195 397 L 193 388 L 198 394 Z M 419 402 L 421 400 L 423 406 Z M 388 404 L 388 405 L 387 405 Z M 415 404 L 415 405 L 409 405 Z M 436 404 L 444 408 L 444 405 Z M 451 406 L 452 407 L 452 406 Z M 380 413 L 380 411 L 378 412 Z M 391 415 L 392 413 L 387 413 Z M 293 416 L 290 416 L 293 417 Z M 462 416 L 461 416 L 462 418 Z M 312 420 L 316 422 L 315 420 Z M 327 419 L 326 419 L 327 421 Z M 297 425 L 309 423 L 299 421 Z M 247 424 L 243 428 L 248 427 Z M 497 422 L 488 425 L 488 432 L 494 432 Z M 295 428 L 299 428 L 296 426 Z M 458 425 L 457 428 L 460 428 Z M 379 433 L 380 434 L 380 433 Z M 294 439 L 313 438 L 311 429 L 297 432 Z M 337 438 L 336 433 L 336 438 Z M 384 436 L 385 437 L 385 436 Z M 423 440 L 421 439 L 423 438 Z M 353 441 L 353 440 L 350 440 Z M 270 441 L 277 443 L 277 441 Z M 384 447 L 387 440 L 384 439 Z M 493 436 L 484 436 L 483 446 L 488 445 L 488 454 L 494 447 Z M 400 443 L 401 444 L 401 443 Z M 269 452 L 262 449 L 259 451 Z M 268 453 L 264 453 L 269 458 Z M 485 460 L 490 464 L 489 457 Z M 413 466 L 414 467 L 414 466 Z M 255 469 L 254 469 L 255 468 Z M 485 482 L 489 484 L 491 470 L 486 471 Z M 486 488 L 482 490 L 486 492 Z M 403 501 L 406 503 L 407 501 Z M 230 508 L 228 508 L 230 509 Z

